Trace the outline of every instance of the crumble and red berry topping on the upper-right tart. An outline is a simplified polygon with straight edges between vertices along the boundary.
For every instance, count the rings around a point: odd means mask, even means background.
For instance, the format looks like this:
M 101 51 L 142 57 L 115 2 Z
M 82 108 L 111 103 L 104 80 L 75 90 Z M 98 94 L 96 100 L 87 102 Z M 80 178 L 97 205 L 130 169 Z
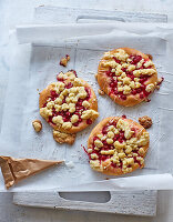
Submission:
M 114 53 L 105 52 L 101 65 L 106 68 L 110 94 L 116 94 L 126 100 L 130 94 L 139 94 L 140 99 L 147 98 L 156 88 L 156 82 L 149 84 L 147 80 L 156 73 L 154 63 L 141 56 L 128 54 L 123 49 Z

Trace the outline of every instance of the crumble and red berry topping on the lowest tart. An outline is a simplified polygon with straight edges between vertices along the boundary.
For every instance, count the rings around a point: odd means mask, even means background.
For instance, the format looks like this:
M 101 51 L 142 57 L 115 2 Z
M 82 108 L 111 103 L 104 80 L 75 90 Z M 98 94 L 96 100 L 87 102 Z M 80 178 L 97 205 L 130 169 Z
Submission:
M 111 165 L 121 168 L 123 173 L 132 172 L 135 165 L 143 168 L 149 133 L 142 132 L 136 138 L 135 131 L 138 129 L 124 118 L 104 125 L 88 149 L 91 168 L 100 168 L 99 170 L 103 171 Z M 104 168 L 103 162 L 106 163 Z

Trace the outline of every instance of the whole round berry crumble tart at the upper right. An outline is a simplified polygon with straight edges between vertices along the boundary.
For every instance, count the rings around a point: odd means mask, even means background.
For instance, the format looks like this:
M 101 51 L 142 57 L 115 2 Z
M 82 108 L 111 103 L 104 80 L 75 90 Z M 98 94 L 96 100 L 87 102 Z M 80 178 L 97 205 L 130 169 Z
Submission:
M 155 65 L 149 56 L 130 48 L 105 52 L 96 79 L 100 88 L 124 107 L 147 101 L 159 83 Z

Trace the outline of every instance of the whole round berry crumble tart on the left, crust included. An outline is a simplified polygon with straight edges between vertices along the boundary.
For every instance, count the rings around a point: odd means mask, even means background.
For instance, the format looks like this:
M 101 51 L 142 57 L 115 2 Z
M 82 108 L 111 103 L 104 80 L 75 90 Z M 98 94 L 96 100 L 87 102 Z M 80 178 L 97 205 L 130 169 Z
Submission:
M 75 133 L 99 117 L 94 91 L 75 71 L 60 72 L 58 82 L 40 93 L 40 114 L 60 132 Z

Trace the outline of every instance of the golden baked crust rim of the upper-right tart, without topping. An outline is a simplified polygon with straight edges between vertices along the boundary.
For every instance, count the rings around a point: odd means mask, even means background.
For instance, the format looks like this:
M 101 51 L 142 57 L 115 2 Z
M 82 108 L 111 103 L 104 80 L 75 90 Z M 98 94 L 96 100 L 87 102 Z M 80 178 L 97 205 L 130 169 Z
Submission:
M 129 93 L 129 94 L 125 94 L 125 97 L 126 97 L 126 99 L 121 99 L 121 97 L 120 97 L 120 92 L 119 93 L 112 93 L 111 92 L 111 87 L 110 87 L 110 83 L 111 83 L 111 78 L 109 78 L 108 77 L 108 74 L 106 74 L 106 72 L 110 70 L 110 67 L 109 65 L 104 65 L 104 63 L 105 62 L 108 62 L 108 61 L 112 61 L 113 59 L 112 59 L 112 56 L 113 54 L 115 54 L 115 53 L 118 53 L 120 50 L 123 50 L 126 54 L 129 54 L 129 57 L 132 57 L 132 56 L 141 56 L 141 58 L 144 60 L 144 63 L 145 62 L 149 62 L 149 61 L 151 61 L 150 60 L 150 58 L 146 56 L 146 54 L 144 54 L 144 53 L 142 53 L 142 52 L 140 52 L 140 51 L 138 51 L 138 50 L 135 50 L 135 49 L 130 49 L 130 48 L 120 48 L 120 49 L 115 49 L 115 50 L 112 50 L 112 51 L 110 51 L 110 52 L 108 52 L 109 54 L 110 54 L 110 58 L 109 57 L 103 57 L 102 59 L 101 59 L 101 61 L 100 61 L 100 63 L 99 63 L 99 68 L 98 68 L 98 75 L 96 75 L 96 79 L 98 79 L 98 82 L 99 82 L 99 85 L 100 85 L 100 88 L 114 101 L 114 102 L 116 102 L 118 104 L 121 104 L 121 105 L 124 105 L 124 107 L 133 107 L 133 105 L 135 105 L 135 104 L 138 104 L 138 103 L 140 103 L 140 102 L 142 102 L 142 101 L 144 101 L 144 100 L 146 100 L 146 98 L 147 98 L 147 95 L 151 93 L 151 92 L 153 92 L 154 91 L 154 89 L 156 88 L 156 84 L 157 84 L 157 72 L 156 72 L 156 69 L 155 69 L 155 67 L 154 67 L 154 64 L 152 63 L 152 69 L 154 70 L 154 72 L 153 72 L 153 74 L 151 74 L 149 78 L 147 78 L 147 80 L 144 82 L 144 83 L 142 83 L 142 84 L 144 84 L 144 87 L 145 85 L 149 85 L 149 84 L 153 84 L 153 88 L 152 88 L 152 91 L 150 92 L 150 93 L 144 93 L 144 95 L 142 94 L 143 93 L 143 91 L 144 90 L 142 90 L 142 92 L 141 93 L 136 93 L 136 94 L 132 94 L 132 93 Z M 128 59 L 128 58 L 126 58 Z M 120 60 L 121 61 L 121 60 Z M 126 60 L 124 59 L 124 61 L 121 61 L 121 63 L 120 64 L 122 64 L 122 63 L 125 63 L 126 62 Z M 151 61 L 152 62 L 152 61 Z M 143 63 L 143 64 L 144 64 Z M 130 63 L 129 63 L 129 65 L 130 65 Z M 134 64 L 135 67 L 138 65 L 138 63 L 136 64 Z M 111 68 L 112 69 L 112 68 Z M 116 68 L 115 68 L 116 69 Z M 128 68 L 125 68 L 125 69 L 128 69 Z M 138 69 L 140 69 L 140 68 L 138 68 Z M 147 69 L 147 68 L 142 68 L 142 69 Z M 136 68 L 135 68 L 135 70 L 136 70 Z M 125 73 L 126 73 L 126 71 L 125 71 Z M 116 79 L 118 80 L 118 79 Z M 132 81 L 132 79 L 131 79 L 131 81 Z M 118 82 L 119 82 L 119 80 L 118 80 Z M 124 84 L 123 84 L 124 85 Z M 132 89 L 131 89 L 132 90 Z M 132 92 L 132 91 L 131 91 Z M 134 91 L 133 91 L 134 92 Z M 124 91 L 123 91 L 123 93 L 124 93 Z M 141 95 L 140 95 L 141 94 Z

